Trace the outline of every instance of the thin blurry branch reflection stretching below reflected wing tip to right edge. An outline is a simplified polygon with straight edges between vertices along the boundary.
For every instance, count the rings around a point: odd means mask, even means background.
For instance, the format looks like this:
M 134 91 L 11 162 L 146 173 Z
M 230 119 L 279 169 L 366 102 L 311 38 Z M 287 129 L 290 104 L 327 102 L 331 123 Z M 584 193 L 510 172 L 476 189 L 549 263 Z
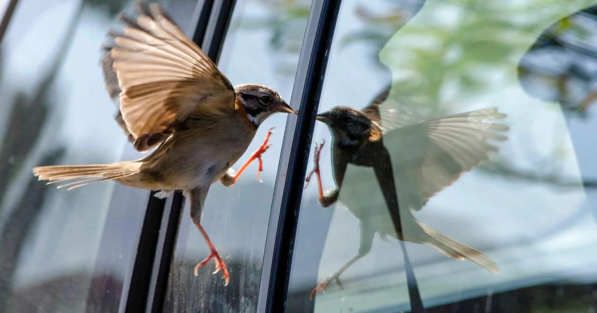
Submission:
M 504 165 L 501 163 L 487 163 L 479 166 L 479 169 L 486 173 L 491 173 L 506 178 L 518 179 L 521 181 L 538 182 L 542 184 L 551 184 L 554 187 L 574 188 L 583 185 L 585 188 L 597 188 L 597 180 L 586 180 L 580 184 L 572 178 L 563 178 L 556 173 L 537 173 L 536 171 L 529 171 L 525 169 L 516 169 L 513 166 Z

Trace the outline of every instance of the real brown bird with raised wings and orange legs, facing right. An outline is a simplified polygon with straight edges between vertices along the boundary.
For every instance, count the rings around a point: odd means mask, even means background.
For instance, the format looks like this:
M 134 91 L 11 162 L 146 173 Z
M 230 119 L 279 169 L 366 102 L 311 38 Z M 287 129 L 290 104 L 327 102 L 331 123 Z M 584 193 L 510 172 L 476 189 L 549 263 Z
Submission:
M 116 120 L 139 151 L 137 160 L 97 165 L 33 168 L 48 184 L 68 190 L 101 181 L 148 190 L 165 196 L 182 190 L 190 217 L 210 248 L 195 266 L 195 276 L 211 259 L 230 280 L 226 264 L 201 225 L 211 184 L 234 184 L 247 165 L 270 147 L 267 132 L 261 146 L 235 172 L 230 166 L 244 154 L 257 128 L 270 115 L 296 113 L 273 89 L 259 84 L 232 86 L 216 64 L 168 16 L 159 4 L 137 4 L 136 18 L 121 15 L 122 32 L 109 32 L 104 47 L 104 80 L 109 94 L 118 94 Z

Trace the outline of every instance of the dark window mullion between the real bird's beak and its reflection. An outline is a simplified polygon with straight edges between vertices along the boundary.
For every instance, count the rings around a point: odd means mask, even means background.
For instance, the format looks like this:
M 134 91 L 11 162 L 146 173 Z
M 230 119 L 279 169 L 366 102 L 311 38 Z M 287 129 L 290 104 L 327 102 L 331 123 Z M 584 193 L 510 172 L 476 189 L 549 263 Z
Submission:
M 296 119 L 288 119 L 285 129 L 267 231 L 258 312 L 284 312 L 307 157 L 340 3 L 313 1 L 309 13 L 291 97 L 291 105 L 298 107 L 299 113 Z

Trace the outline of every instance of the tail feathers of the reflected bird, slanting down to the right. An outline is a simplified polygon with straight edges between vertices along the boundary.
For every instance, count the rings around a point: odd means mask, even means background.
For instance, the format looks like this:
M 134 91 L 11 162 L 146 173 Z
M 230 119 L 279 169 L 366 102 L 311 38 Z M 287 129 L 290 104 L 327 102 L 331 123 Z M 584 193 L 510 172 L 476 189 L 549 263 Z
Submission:
M 423 228 L 423 231 L 431 237 L 429 238 L 429 243 L 435 247 L 435 249 L 438 249 L 439 252 L 454 259 L 469 259 L 471 262 L 478 264 L 493 273 L 500 272 L 496 263 L 491 261 L 488 256 L 471 247 L 464 246 L 464 244 L 439 233 L 439 231 L 433 230 L 420 221 L 417 222 L 421 228 Z

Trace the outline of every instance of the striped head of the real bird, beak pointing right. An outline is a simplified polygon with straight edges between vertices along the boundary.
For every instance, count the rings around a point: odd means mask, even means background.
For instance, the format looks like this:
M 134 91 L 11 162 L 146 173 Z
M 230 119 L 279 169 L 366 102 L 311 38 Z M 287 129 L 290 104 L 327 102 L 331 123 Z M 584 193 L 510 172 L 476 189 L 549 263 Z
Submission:
M 237 100 L 245 107 L 256 127 L 276 112 L 296 113 L 273 89 L 255 84 L 235 86 Z

